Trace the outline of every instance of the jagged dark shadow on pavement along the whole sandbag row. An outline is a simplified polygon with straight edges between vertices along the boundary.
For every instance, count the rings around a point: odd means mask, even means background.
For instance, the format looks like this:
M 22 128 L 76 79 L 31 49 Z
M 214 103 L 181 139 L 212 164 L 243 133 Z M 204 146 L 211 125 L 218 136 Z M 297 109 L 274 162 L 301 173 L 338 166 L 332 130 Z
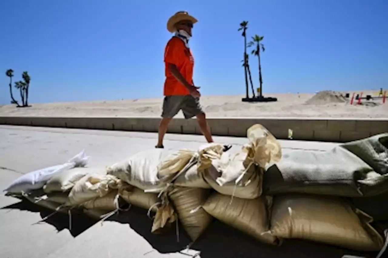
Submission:
M 52 213 L 52 210 L 33 204 L 27 200 L 1 208 L 39 212 L 41 218 Z M 362 253 L 347 249 L 302 240 L 286 240 L 281 246 L 262 244 L 238 230 L 217 220 L 206 229 L 203 235 L 191 246 L 199 256 L 188 255 L 185 251 L 191 240 L 179 225 L 179 242 L 175 225 L 164 234 L 152 234 L 152 220 L 144 209 L 132 207 L 108 218 L 109 221 L 127 224 L 141 235 L 159 253 L 180 252 L 188 257 L 201 258 L 341 258 L 343 255 L 375 257 L 376 253 Z M 76 237 L 95 224 L 95 220 L 82 214 L 72 215 L 71 235 Z M 56 213 L 42 223 L 53 225 L 58 231 L 69 230 L 68 214 Z M 146 255 L 146 253 L 144 254 Z M 152 257 L 152 253 L 149 254 Z

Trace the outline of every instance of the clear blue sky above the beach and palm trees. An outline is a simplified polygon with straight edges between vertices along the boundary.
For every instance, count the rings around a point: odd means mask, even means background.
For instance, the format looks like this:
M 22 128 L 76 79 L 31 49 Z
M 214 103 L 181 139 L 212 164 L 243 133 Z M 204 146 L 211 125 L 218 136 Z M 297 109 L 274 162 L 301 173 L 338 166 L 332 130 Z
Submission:
M 30 103 L 162 97 L 166 22 L 178 10 L 199 20 L 190 44 L 203 95 L 245 94 L 242 20 L 264 36 L 264 93 L 388 88 L 388 0 L 9 0 L 0 104 L 9 68 L 14 80 L 31 75 Z

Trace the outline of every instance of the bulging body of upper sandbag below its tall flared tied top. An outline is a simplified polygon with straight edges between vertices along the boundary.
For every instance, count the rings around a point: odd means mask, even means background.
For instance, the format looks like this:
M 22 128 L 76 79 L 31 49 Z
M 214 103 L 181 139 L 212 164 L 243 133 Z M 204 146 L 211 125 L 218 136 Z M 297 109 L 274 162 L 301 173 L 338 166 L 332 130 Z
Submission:
M 203 177 L 220 194 L 255 199 L 262 194 L 263 170 L 241 160 L 243 154 L 238 152 L 231 160 L 228 152 L 223 153 L 221 159 L 213 161 L 213 166 L 204 172 Z M 236 184 L 237 179 L 239 182 Z

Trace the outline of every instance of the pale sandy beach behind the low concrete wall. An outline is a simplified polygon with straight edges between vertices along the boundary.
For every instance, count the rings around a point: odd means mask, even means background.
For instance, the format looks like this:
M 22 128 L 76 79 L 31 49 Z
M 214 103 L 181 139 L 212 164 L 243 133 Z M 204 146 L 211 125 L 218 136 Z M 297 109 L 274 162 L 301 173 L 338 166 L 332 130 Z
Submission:
M 355 92 L 359 94 L 360 91 Z M 350 93 L 352 97 L 353 92 Z M 365 90 L 375 96 L 378 90 Z M 344 93 L 342 93 L 344 95 Z M 208 117 L 324 117 L 324 118 L 388 118 L 388 100 L 365 100 L 350 104 L 350 98 L 340 92 L 323 91 L 316 94 L 264 94 L 277 97 L 277 102 L 242 102 L 244 95 L 202 96 L 201 105 Z M 155 99 L 121 99 L 113 101 L 57 102 L 31 104 L 28 108 L 15 105 L 0 106 L 0 116 L 49 117 L 114 117 L 160 116 L 163 97 Z M 177 117 L 183 117 L 180 112 Z

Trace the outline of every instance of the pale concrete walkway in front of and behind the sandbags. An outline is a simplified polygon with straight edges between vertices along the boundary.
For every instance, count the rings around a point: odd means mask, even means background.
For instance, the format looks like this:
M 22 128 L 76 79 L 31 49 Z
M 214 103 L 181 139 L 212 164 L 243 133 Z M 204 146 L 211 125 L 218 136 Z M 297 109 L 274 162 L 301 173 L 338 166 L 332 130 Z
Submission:
M 104 167 L 136 152 L 153 148 L 156 133 L 135 133 L 30 126 L 0 126 L 0 189 L 4 189 L 23 173 L 61 164 L 86 150 L 90 167 Z M 245 138 L 215 137 L 216 142 L 235 145 L 238 150 Z M 325 151 L 334 143 L 280 141 L 283 153 L 292 149 Z M 166 148 L 197 148 L 204 143 L 198 135 L 167 135 Z M 109 221 L 92 227 L 90 219 L 73 217 L 69 230 L 67 215 L 54 215 L 35 224 L 50 211 L 13 197 L 0 196 L 0 257 L 341 257 L 354 253 L 332 246 L 305 241 L 285 241 L 281 247 L 261 244 L 223 223 L 214 222 L 190 250 L 189 239 L 180 230 L 166 235 L 150 233 L 151 220 L 146 211 L 132 208 L 114 215 Z M 312 255 L 313 254 L 313 255 Z

